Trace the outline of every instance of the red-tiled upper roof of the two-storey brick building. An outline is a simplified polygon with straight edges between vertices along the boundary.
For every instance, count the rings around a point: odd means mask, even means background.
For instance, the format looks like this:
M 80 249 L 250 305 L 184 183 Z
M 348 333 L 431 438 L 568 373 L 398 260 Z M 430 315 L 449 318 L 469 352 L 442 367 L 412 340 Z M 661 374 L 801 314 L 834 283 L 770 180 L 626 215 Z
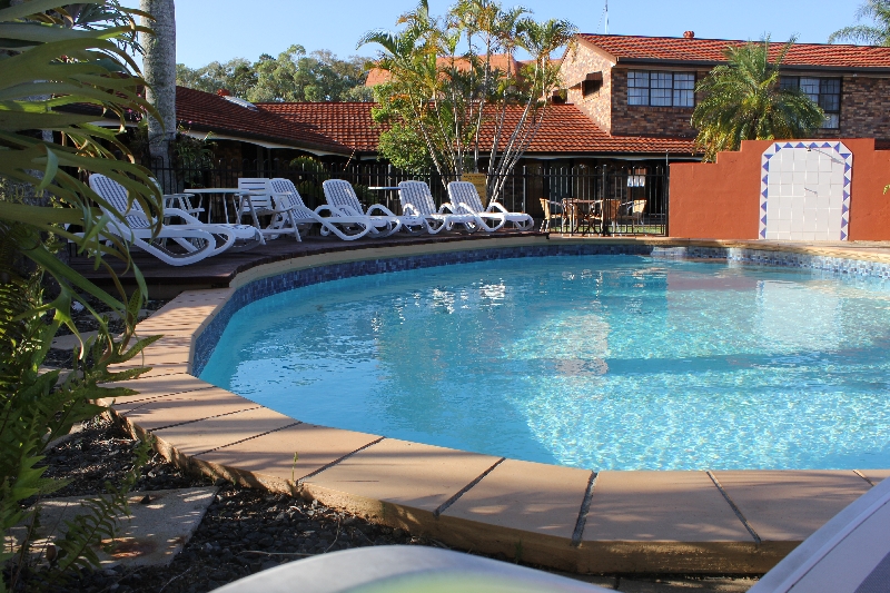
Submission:
M 728 47 L 748 41 L 682 37 L 640 37 L 578 33 L 578 39 L 595 46 L 619 63 L 694 63 L 714 66 L 725 62 Z M 774 58 L 784 43 L 770 43 Z M 890 47 L 794 43 L 782 62 L 784 67 L 820 69 L 890 69 Z

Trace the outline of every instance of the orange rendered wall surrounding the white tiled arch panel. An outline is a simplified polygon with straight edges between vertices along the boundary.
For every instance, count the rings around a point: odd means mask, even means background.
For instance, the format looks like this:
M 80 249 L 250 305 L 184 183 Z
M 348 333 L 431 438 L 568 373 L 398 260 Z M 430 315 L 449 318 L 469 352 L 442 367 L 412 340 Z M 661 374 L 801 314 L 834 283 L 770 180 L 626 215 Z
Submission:
M 837 141 L 837 140 L 835 140 Z M 873 138 L 841 139 L 853 152 L 849 240 L 890 240 L 890 151 Z M 748 140 L 716 162 L 671 165 L 669 224 L 672 237 L 756 239 L 760 172 L 772 140 Z

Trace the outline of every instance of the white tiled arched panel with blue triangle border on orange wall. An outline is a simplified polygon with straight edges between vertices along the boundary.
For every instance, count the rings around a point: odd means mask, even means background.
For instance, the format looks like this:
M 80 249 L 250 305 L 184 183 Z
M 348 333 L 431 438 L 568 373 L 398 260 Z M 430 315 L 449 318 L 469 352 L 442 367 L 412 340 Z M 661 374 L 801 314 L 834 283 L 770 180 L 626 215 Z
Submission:
M 847 240 L 852 168 L 843 142 L 773 144 L 761 160 L 760 238 Z

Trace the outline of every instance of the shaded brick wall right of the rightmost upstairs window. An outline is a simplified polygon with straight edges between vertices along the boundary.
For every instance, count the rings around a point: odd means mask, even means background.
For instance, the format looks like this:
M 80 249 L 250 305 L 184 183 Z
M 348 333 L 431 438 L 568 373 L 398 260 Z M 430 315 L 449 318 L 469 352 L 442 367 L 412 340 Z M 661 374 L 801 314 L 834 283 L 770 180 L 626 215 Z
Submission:
M 843 77 L 841 129 L 844 138 L 890 138 L 890 79 Z

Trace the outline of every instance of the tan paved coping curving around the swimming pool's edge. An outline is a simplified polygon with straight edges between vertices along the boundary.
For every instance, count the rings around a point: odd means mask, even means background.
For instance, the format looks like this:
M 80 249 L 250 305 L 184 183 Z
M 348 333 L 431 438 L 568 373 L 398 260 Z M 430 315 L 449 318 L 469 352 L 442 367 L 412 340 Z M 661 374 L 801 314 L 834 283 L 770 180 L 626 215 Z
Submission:
M 165 336 L 120 367 L 154 367 L 127 382 L 139 395 L 108 403 L 122 425 L 150 433 L 178 465 L 317 498 L 448 546 L 577 573 L 761 574 L 890 476 L 887 470 L 594 473 L 314 426 L 189 374 L 198 337 L 255 280 L 352 263 L 454 257 L 477 249 L 474 243 L 295 257 L 243 271 L 228 288 L 184 291 L 138 326 L 139 335 Z M 660 257 L 723 253 L 890 278 L 890 244 L 532 236 L 502 237 L 496 249 L 592 245 L 646 246 Z

